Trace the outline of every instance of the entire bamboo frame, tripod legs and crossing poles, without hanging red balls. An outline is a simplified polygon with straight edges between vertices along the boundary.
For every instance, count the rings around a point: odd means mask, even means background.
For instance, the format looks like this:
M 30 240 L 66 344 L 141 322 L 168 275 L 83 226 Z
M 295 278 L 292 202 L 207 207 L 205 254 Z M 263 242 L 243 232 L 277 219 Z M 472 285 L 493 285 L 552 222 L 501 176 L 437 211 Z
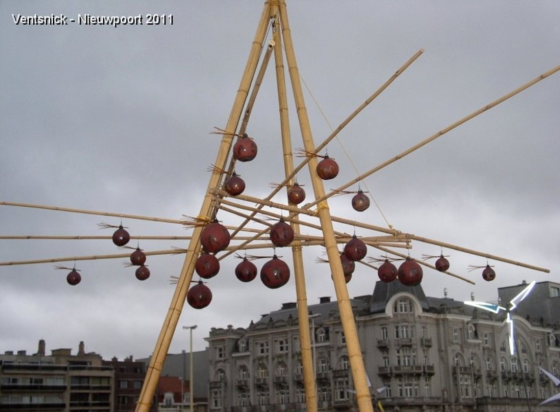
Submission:
M 272 40 L 266 45 L 265 41 L 269 28 L 272 29 Z M 265 53 L 263 54 L 263 50 Z M 304 260 L 303 260 L 303 247 L 306 246 L 316 246 L 321 245 L 325 247 L 327 258 L 323 260 L 328 262 L 331 277 L 333 279 L 334 290 L 336 293 L 336 301 L 338 303 L 338 310 L 340 312 L 340 321 L 342 323 L 342 330 L 345 334 L 347 352 L 349 356 L 349 363 L 351 374 L 353 378 L 353 386 L 356 394 L 356 401 L 358 403 L 358 409 L 360 412 L 373 412 L 373 402 L 371 398 L 370 388 L 368 385 L 369 379 L 366 376 L 366 371 L 364 367 L 364 361 L 362 359 L 362 352 L 360 350 L 360 343 L 358 341 L 358 333 L 355 325 L 355 319 L 353 317 L 353 311 L 351 308 L 351 301 L 349 298 L 349 293 L 346 286 L 345 275 L 342 271 L 342 264 L 340 262 L 340 252 L 338 250 L 338 245 L 347 242 L 351 235 L 349 233 L 344 233 L 341 231 L 335 231 L 334 223 L 347 225 L 349 227 L 360 227 L 363 229 L 375 231 L 382 233 L 382 236 L 370 236 L 364 237 L 362 240 L 364 243 L 384 252 L 393 254 L 399 258 L 405 258 L 406 255 L 395 251 L 395 249 L 409 249 L 410 243 L 412 241 L 423 242 L 427 244 L 434 244 L 440 247 L 445 247 L 446 249 L 454 249 L 463 253 L 468 253 L 471 255 L 478 255 L 491 260 L 498 260 L 500 262 L 505 262 L 507 264 L 515 264 L 517 266 L 523 266 L 535 271 L 549 272 L 546 268 L 541 268 L 532 264 L 526 264 L 523 262 L 517 262 L 515 260 L 502 258 L 497 255 L 491 255 L 489 253 L 483 253 L 481 251 L 476 251 L 473 249 L 466 249 L 454 244 L 447 242 L 441 242 L 439 240 L 433 240 L 430 238 L 424 238 L 421 236 L 415 236 L 410 233 L 405 233 L 394 229 L 392 226 L 388 227 L 378 227 L 374 225 L 368 225 L 363 222 L 358 222 L 355 220 L 349 220 L 345 218 L 340 218 L 331 214 L 327 200 L 347 187 L 353 185 L 356 182 L 362 181 L 367 176 L 381 170 L 386 165 L 393 163 L 402 157 L 410 154 L 411 152 L 417 150 L 418 148 L 425 146 L 426 144 L 434 141 L 435 139 L 441 137 L 448 131 L 460 126 L 461 124 L 467 122 L 484 113 L 490 108 L 504 102 L 505 100 L 517 95 L 521 91 L 524 91 L 533 84 L 543 80 L 544 78 L 556 73 L 560 70 L 560 66 L 557 66 L 545 73 L 541 74 L 537 78 L 531 80 L 530 82 L 524 84 L 522 87 L 515 89 L 511 93 L 504 95 L 502 98 L 495 100 L 486 106 L 478 109 L 477 111 L 459 119 L 454 124 L 441 129 L 439 132 L 428 137 L 419 144 L 412 146 L 408 150 L 401 152 L 399 155 L 388 159 L 384 163 L 377 165 L 375 168 L 360 174 L 356 179 L 345 183 L 336 190 L 332 190 L 329 193 L 325 192 L 325 187 L 323 181 L 320 179 L 316 172 L 316 166 L 318 164 L 316 155 L 320 150 L 325 148 L 329 142 L 334 139 L 338 133 L 356 116 L 358 115 L 369 103 L 371 103 L 375 98 L 377 98 L 382 91 L 384 91 L 405 69 L 407 69 L 412 62 L 414 62 L 423 53 L 420 49 L 415 55 L 408 59 L 404 65 L 402 65 L 393 76 L 390 78 L 373 93 L 367 100 L 365 100 L 344 122 L 342 122 L 324 141 L 320 144 L 315 144 L 314 137 L 312 134 L 309 119 L 307 117 L 307 108 L 305 106 L 305 100 L 303 98 L 303 89 L 301 86 L 301 78 L 299 76 L 299 69 L 296 62 L 296 55 L 294 51 L 294 44 L 292 41 L 292 35 L 290 31 L 290 23 L 288 21 L 288 12 L 285 5 L 285 0 L 267 0 L 264 3 L 264 9 L 261 12 L 259 23 L 257 25 L 257 30 L 253 38 L 253 43 L 250 48 L 246 66 L 242 73 L 242 78 L 240 80 L 240 86 L 235 95 L 233 101 L 233 106 L 229 118 L 227 119 L 226 126 L 218 134 L 222 135 L 222 140 L 220 141 L 220 147 L 218 148 L 218 153 L 213 163 L 213 169 L 218 170 L 218 172 L 212 172 L 207 186 L 207 192 L 202 200 L 202 205 L 200 211 L 196 218 L 191 218 L 187 220 L 177 220 L 177 219 L 165 219 L 165 218 L 154 218 L 150 216 L 137 216 L 137 215 L 126 215 L 121 213 L 111 213 L 106 211 L 91 211 L 91 210 L 81 210 L 81 209 L 70 209 L 67 207 L 53 207 L 46 205 L 30 205 L 24 203 L 10 203 L 10 202 L 0 202 L 0 205 L 14 206 L 14 207 L 35 207 L 40 209 L 51 209 L 56 211 L 65 211 L 71 213 L 82 213 L 82 214 L 94 214 L 101 216 L 114 216 L 119 218 L 130 218 L 130 219 L 141 219 L 155 222 L 165 222 L 174 223 L 178 225 L 185 225 L 193 229 L 191 236 L 136 236 L 137 239 L 159 239 L 159 240 L 189 240 L 189 246 L 187 249 L 172 249 L 172 250 L 161 250 L 161 251 L 147 251 L 146 255 L 165 255 L 165 254 L 185 254 L 185 260 L 180 271 L 180 275 L 176 278 L 176 289 L 170 303 L 170 308 L 167 315 L 163 321 L 163 325 L 156 341 L 154 351 L 152 353 L 152 358 L 150 359 L 150 365 L 148 366 L 148 371 L 143 382 L 143 387 L 141 389 L 141 394 L 139 401 L 137 403 L 137 412 L 148 412 L 150 410 L 152 400 L 154 399 L 154 393 L 156 393 L 156 387 L 163 369 L 163 363 L 165 362 L 165 357 L 170 348 L 172 338 L 176 327 L 178 325 L 180 314 L 185 305 L 185 300 L 187 297 L 187 292 L 189 286 L 191 285 L 192 277 L 194 274 L 194 268 L 196 263 L 196 258 L 201 252 L 201 242 L 200 236 L 205 225 L 207 225 L 213 218 L 215 218 L 218 211 L 224 211 L 226 213 L 240 216 L 244 218 L 244 221 L 240 225 L 234 227 L 227 227 L 233 231 L 232 239 L 236 241 L 234 246 L 227 247 L 224 249 L 224 253 L 220 255 L 219 259 L 222 260 L 231 253 L 244 249 L 268 249 L 270 248 L 270 243 L 267 242 L 266 234 L 270 231 L 270 224 L 263 219 L 257 218 L 257 214 L 264 214 L 270 218 L 283 218 L 288 222 L 292 229 L 294 230 L 294 240 L 290 244 L 292 251 L 292 264 L 294 268 L 294 278 L 296 286 L 296 299 L 297 299 L 297 313 L 299 318 L 299 335 L 301 340 L 301 357 L 303 365 L 303 380 L 305 384 L 305 400 L 308 412 L 317 411 L 317 396 L 316 396 L 316 381 L 314 376 L 314 366 L 312 358 L 312 346 L 310 339 L 310 321 L 308 317 L 307 308 L 307 291 L 305 286 L 305 270 L 304 270 Z M 264 78 L 264 73 L 268 67 L 269 61 L 274 58 L 275 62 L 275 77 L 277 83 L 277 95 L 279 104 L 279 120 L 280 120 L 280 131 L 281 131 L 281 144 L 283 150 L 283 168 L 285 178 L 282 183 L 276 185 L 274 190 L 264 199 L 255 198 L 247 195 L 238 195 L 235 198 L 228 198 L 229 194 L 222 190 L 224 176 L 231 174 L 235 166 L 235 159 L 231 156 L 233 139 L 236 136 L 241 136 L 245 133 L 248 126 L 248 120 L 250 113 L 253 110 L 253 105 L 255 104 L 255 99 L 259 87 Z M 257 67 L 261 62 L 261 67 L 257 72 Z M 286 69 L 287 68 L 287 69 Z M 286 76 L 286 71 L 288 76 Z M 256 76 L 255 76 L 256 75 Z M 289 82 L 289 87 L 288 87 Z M 311 154 L 311 156 L 305 157 L 299 165 L 294 165 L 294 154 L 292 149 L 292 136 L 290 135 L 290 118 L 288 116 L 288 89 L 292 92 L 292 97 L 294 104 L 296 106 L 297 122 L 299 124 L 299 130 L 301 131 L 301 137 L 303 142 L 303 148 L 305 153 Z M 272 201 L 275 194 L 283 187 L 290 187 L 296 182 L 295 176 L 301 171 L 305 165 L 309 170 L 310 179 L 312 182 L 314 201 L 307 203 L 303 207 L 298 205 L 293 205 L 291 203 L 283 204 Z M 264 207 L 272 207 L 279 211 L 288 212 L 288 216 L 283 216 L 282 214 L 277 214 L 272 211 L 265 210 Z M 309 220 L 313 220 L 310 222 Z M 318 219 L 318 223 L 316 220 Z M 249 222 L 258 223 L 263 227 L 263 229 L 255 229 L 252 227 L 247 227 Z M 319 231 L 320 236 L 310 236 L 302 233 L 301 227 L 312 228 Z M 240 236 L 238 233 L 240 231 L 247 232 L 245 236 Z M 106 239 L 107 236 L 0 236 L 0 238 L 13 238 L 13 239 Z M 45 262 L 63 262 L 71 260 L 94 260 L 94 259 L 113 259 L 113 258 L 125 258 L 128 254 L 118 253 L 115 255 L 93 255 L 93 256 L 79 256 L 79 257 L 66 257 L 66 258 L 52 258 L 43 260 L 26 260 L 26 261 L 13 261 L 13 262 L 0 262 L 0 266 L 9 266 L 13 264 L 36 264 Z M 425 262 L 416 260 L 419 264 L 434 268 Z M 365 262 L 360 262 L 366 264 Z M 366 264 L 368 266 L 373 266 Z M 374 267 L 374 266 L 373 266 Z M 444 271 L 445 274 L 461 279 L 465 282 L 471 282 L 469 279 L 460 277 L 449 271 Z

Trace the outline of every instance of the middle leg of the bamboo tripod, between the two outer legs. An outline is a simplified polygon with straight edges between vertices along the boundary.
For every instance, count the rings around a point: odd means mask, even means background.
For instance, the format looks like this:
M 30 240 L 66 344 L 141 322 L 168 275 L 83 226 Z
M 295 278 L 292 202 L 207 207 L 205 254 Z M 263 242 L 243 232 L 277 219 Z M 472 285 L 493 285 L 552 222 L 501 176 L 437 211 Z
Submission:
M 277 8 L 275 8 L 277 12 Z M 276 62 L 276 79 L 278 89 L 278 106 L 280 116 L 280 129 L 282 137 L 284 174 L 286 178 L 292 174 L 294 170 L 294 159 L 292 153 L 292 137 L 290 134 L 290 119 L 288 117 L 288 96 L 286 93 L 284 62 L 281 47 L 281 35 L 278 30 L 274 32 L 275 42 L 279 45 L 275 50 Z M 294 179 L 289 179 L 290 185 L 294 184 Z M 288 187 L 286 187 L 288 192 Z M 299 214 L 296 214 L 291 220 L 290 225 L 294 229 L 294 235 L 301 234 Z M 314 374 L 315 359 L 312 356 L 310 324 L 307 306 L 307 289 L 305 287 L 305 271 L 303 267 L 302 242 L 299 238 L 295 238 L 291 244 L 292 262 L 294 265 L 294 280 L 296 284 L 296 301 L 298 313 L 298 327 L 301 348 L 301 365 L 303 367 L 303 385 L 305 387 L 305 407 L 307 412 L 317 412 L 317 388 Z M 311 333 L 315 333 L 313 330 Z

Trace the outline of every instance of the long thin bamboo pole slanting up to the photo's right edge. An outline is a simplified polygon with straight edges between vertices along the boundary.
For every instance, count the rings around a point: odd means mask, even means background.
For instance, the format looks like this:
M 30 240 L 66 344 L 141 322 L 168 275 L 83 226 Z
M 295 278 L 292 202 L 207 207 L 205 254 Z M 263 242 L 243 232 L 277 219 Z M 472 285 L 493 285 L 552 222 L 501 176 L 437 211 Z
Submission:
M 308 203 L 304 207 L 307 208 L 307 209 L 310 208 L 310 207 L 313 207 L 314 205 L 320 203 L 320 201 L 323 201 L 323 200 L 325 200 L 325 199 L 327 199 L 331 196 L 334 196 L 338 192 L 347 189 L 347 187 L 350 187 L 351 185 L 354 185 L 355 183 L 358 183 L 359 181 L 362 181 L 367 176 L 370 176 L 371 174 L 373 174 L 375 172 L 378 172 L 379 170 L 382 170 L 386 166 L 390 165 L 391 163 L 395 163 L 395 161 L 397 161 L 399 159 L 402 159 L 406 155 L 410 155 L 410 153 L 415 152 L 415 150 L 418 150 L 419 148 L 427 145 L 428 143 L 434 141 L 438 137 L 441 137 L 441 136 L 445 135 L 445 133 L 449 132 L 450 130 L 453 130 L 454 128 L 460 126 L 461 124 L 463 124 L 465 122 L 468 122 L 469 120 L 471 120 L 474 117 L 484 113 L 485 111 L 488 111 L 489 109 L 497 106 L 498 104 L 500 104 L 502 102 L 505 102 L 509 98 L 513 98 L 513 96 L 521 93 L 522 91 L 528 89 L 529 87 L 531 87 L 534 84 L 536 84 L 537 82 L 540 82 L 541 80 L 547 78 L 548 76 L 551 76 L 552 74 L 556 73 L 559 70 L 560 70 L 560 65 L 542 73 L 540 76 L 537 76 L 537 78 L 534 78 L 533 80 L 530 80 L 529 82 L 527 82 L 526 84 L 523 84 L 521 87 L 518 87 L 514 91 L 511 91 L 510 93 L 507 93 L 506 95 L 503 95 L 501 98 L 494 100 L 493 102 L 487 104 L 486 106 L 482 106 L 481 108 L 474 111 L 473 113 L 463 117 L 462 119 L 459 119 L 457 122 L 455 122 L 453 124 L 450 124 L 450 126 L 447 126 L 443 129 L 439 130 L 439 132 L 437 132 L 437 133 L 434 133 L 434 135 L 428 137 L 428 139 L 424 139 L 423 141 L 419 142 L 418 144 L 415 144 L 415 146 L 412 146 L 411 148 L 408 148 L 407 150 L 404 150 L 404 152 L 401 152 L 399 155 L 397 155 L 397 156 L 395 156 L 391 159 L 388 159 L 387 161 L 384 161 L 380 165 L 377 165 L 375 168 L 370 169 L 363 174 L 360 174 L 360 176 L 358 176 L 357 178 L 352 179 L 348 183 L 345 183 L 344 185 L 342 185 L 342 186 L 338 187 L 337 189 L 329 192 L 328 194 L 325 194 L 325 196 L 323 196 L 323 198 L 318 198 L 315 201 L 313 201 L 312 203 Z

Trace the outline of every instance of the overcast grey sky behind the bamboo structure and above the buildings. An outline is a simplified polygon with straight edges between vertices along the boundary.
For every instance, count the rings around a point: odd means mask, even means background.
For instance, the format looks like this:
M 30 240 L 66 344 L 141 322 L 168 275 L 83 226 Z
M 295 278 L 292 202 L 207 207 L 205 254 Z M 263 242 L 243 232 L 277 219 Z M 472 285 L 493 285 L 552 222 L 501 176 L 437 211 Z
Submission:
M 180 219 L 200 211 L 220 137 L 262 10 L 259 1 L 13 1 L 0 3 L 0 201 Z M 17 16 L 173 15 L 173 24 L 112 27 L 16 25 Z M 340 174 L 334 189 L 465 115 L 560 64 L 560 3 L 533 1 L 294 1 L 292 38 L 316 144 L 419 49 L 423 55 L 328 147 Z M 275 76 L 266 73 L 248 133 L 257 158 L 237 166 L 245 194 L 263 197 L 283 179 Z M 364 185 L 380 205 L 362 214 L 350 196 L 329 201 L 336 216 L 550 269 L 502 262 L 485 282 L 484 258 L 444 249 L 450 270 L 430 269 L 430 296 L 495 300 L 498 288 L 526 279 L 556 282 L 560 254 L 560 74 L 546 78 L 387 168 Z M 329 124 L 320 112 L 325 114 Z M 301 148 L 290 100 L 294 148 Z M 347 155 L 348 154 L 348 157 Z M 299 163 L 300 159 L 296 159 Z M 312 195 L 305 168 L 298 176 Z M 349 190 L 357 190 L 352 187 Z M 364 188 L 362 186 L 362 188 Z M 275 200 L 285 202 L 283 196 Z M 226 225 L 237 218 L 219 214 Z M 0 206 L 0 235 L 110 236 L 98 223 L 119 218 Z M 124 220 L 135 235 L 187 236 L 180 225 Z M 255 225 L 257 227 L 257 225 Z M 260 227 L 259 227 L 260 228 Z M 351 227 L 338 227 L 352 233 Z M 374 232 L 358 229 L 358 236 Z M 131 241 L 136 246 L 136 241 Z M 146 251 L 187 241 L 142 240 Z M 123 253 L 110 240 L 0 240 L 0 261 Z M 272 250 L 259 251 L 270 255 Z M 290 267 L 289 249 L 278 251 Z M 410 255 L 439 255 L 413 242 Z M 255 253 L 257 254 L 257 253 Z M 369 258 L 382 253 L 369 249 Z M 323 248 L 305 250 L 308 303 L 334 299 Z M 82 282 L 69 286 L 55 264 L 0 266 L 0 353 L 47 352 L 84 341 L 106 358 L 149 356 L 170 306 L 183 255 L 148 257 L 152 275 L 135 278 L 126 259 L 76 262 Z M 185 306 L 182 325 L 197 324 L 194 350 L 212 327 L 245 328 L 260 314 L 296 301 L 293 275 L 270 290 L 259 278 L 239 282 L 239 260 L 222 260 L 209 279 L 204 310 Z M 263 262 L 257 261 L 257 266 Z M 432 261 L 433 263 L 433 261 Z M 73 266 L 73 262 L 61 262 Z M 196 278 L 196 276 L 195 276 Z M 373 292 L 377 273 L 358 264 L 351 297 Z M 189 349 L 178 329 L 170 352 Z

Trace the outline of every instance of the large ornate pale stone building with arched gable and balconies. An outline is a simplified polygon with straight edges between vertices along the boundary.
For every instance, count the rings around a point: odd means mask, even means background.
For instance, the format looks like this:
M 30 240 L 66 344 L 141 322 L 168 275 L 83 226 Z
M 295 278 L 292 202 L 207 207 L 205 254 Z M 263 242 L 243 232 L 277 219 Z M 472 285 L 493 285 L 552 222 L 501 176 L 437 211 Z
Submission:
M 372 396 L 387 412 L 560 411 L 558 402 L 537 407 L 557 390 L 539 367 L 560 374 L 558 290 L 537 284 L 513 314 L 511 356 L 503 315 L 426 297 L 421 286 L 377 282 L 373 295 L 352 299 Z M 338 306 L 325 297 L 309 310 L 318 408 L 357 411 Z M 305 411 L 296 304 L 246 329 L 212 328 L 207 341 L 210 411 Z

